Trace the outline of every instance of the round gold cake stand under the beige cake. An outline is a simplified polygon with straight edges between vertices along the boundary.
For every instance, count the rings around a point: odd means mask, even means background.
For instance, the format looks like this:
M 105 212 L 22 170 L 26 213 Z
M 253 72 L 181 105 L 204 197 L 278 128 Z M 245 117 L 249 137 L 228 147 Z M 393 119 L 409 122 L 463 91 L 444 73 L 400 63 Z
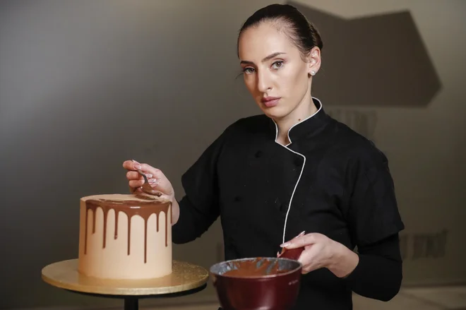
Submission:
M 78 259 L 52 263 L 42 269 L 42 280 L 49 285 L 97 297 L 124 299 L 125 310 L 137 310 L 145 297 L 176 297 L 200 292 L 208 281 L 201 266 L 173 261 L 172 274 L 148 280 L 104 280 L 78 273 Z

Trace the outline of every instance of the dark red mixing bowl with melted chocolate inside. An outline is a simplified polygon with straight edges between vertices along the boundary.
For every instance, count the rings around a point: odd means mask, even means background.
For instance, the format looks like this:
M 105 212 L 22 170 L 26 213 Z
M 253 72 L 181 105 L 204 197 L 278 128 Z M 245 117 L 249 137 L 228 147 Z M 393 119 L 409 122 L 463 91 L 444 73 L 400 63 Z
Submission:
M 210 278 L 225 310 L 288 310 L 298 297 L 301 268 L 289 258 L 241 258 L 216 263 Z

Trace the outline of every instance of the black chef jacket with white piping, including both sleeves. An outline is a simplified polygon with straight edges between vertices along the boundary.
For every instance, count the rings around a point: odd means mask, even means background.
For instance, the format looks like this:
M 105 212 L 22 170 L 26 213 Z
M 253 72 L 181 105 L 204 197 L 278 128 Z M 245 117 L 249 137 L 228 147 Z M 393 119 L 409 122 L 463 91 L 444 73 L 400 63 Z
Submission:
M 220 216 L 225 258 L 276 257 L 302 231 L 354 249 L 359 265 L 347 278 L 327 268 L 303 275 L 294 309 L 352 309 L 352 292 L 388 300 L 398 293 L 404 228 L 386 156 L 374 143 L 318 112 L 275 142 L 265 115 L 236 121 L 183 175 L 175 244 L 200 237 Z

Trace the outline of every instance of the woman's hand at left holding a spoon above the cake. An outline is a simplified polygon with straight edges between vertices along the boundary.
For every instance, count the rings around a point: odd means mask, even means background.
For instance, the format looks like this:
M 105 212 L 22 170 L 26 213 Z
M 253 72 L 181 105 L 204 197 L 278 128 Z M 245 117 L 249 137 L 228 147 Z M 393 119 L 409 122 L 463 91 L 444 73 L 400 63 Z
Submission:
M 128 179 L 128 184 L 133 191 L 141 192 L 141 186 L 144 184 L 143 176 L 137 171 L 141 169 L 145 177 L 148 178 L 149 184 L 153 189 L 174 199 L 173 186 L 160 169 L 154 168 L 148 164 L 141 164 L 136 162 L 136 160 L 126 160 L 123 162 L 123 167 L 128 170 L 128 172 L 126 172 L 126 179 Z

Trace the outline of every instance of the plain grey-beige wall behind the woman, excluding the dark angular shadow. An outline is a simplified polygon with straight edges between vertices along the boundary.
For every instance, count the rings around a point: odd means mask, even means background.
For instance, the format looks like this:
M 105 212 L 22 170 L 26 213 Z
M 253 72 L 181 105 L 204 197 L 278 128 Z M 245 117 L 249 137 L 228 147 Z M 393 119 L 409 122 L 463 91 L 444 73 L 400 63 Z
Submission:
M 227 124 L 258 113 L 235 79 L 236 36 L 253 11 L 272 2 L 1 2 L 0 246 L 11 256 L 2 258 L 0 308 L 121 304 L 49 287 L 40 270 L 76 258 L 81 196 L 127 191 L 123 160 L 162 168 L 181 197 L 179 177 L 202 150 Z M 428 107 L 349 108 L 321 100 L 388 154 L 407 226 L 405 284 L 465 281 L 466 3 L 299 2 L 342 18 L 412 14 L 442 85 Z M 361 118 L 371 115 L 377 121 L 367 129 Z M 414 259 L 414 243 L 426 244 L 419 234 L 443 229 L 445 254 Z M 175 246 L 174 258 L 208 268 L 222 258 L 220 232 L 215 223 L 198 241 Z M 208 287 L 141 304 L 202 302 L 213 293 Z

